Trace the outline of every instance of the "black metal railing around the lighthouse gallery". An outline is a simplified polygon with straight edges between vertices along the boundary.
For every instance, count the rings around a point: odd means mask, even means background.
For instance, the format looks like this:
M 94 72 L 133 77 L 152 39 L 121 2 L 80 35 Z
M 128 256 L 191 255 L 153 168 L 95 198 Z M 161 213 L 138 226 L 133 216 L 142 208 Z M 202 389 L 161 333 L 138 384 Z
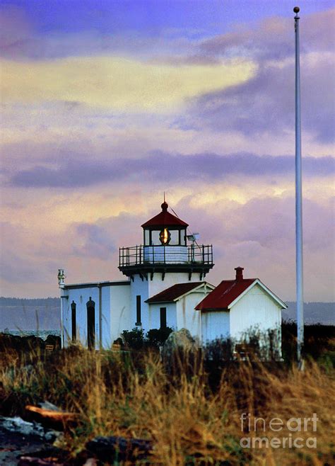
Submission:
M 213 264 L 213 246 L 129 246 L 119 248 L 119 267 L 151 264 Z

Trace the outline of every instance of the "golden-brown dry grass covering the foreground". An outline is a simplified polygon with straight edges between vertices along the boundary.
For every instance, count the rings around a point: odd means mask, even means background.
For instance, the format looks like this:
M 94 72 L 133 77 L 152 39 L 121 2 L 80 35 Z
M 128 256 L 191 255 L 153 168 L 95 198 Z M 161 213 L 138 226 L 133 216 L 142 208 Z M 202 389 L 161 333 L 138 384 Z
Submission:
M 192 356 L 192 355 L 191 355 Z M 171 367 L 173 370 L 171 370 Z M 334 465 L 334 373 L 308 363 L 267 367 L 259 362 L 229 363 L 216 390 L 208 385 L 201 357 L 182 355 L 162 363 L 158 353 L 90 352 L 70 348 L 52 356 L 11 356 L 0 370 L 3 414 L 22 414 L 25 404 L 48 400 L 80 414 L 81 424 L 66 432 L 75 455 L 97 435 L 151 439 L 155 465 Z M 243 433 L 241 414 L 266 421 L 307 418 L 317 413 L 317 433 Z M 269 424 L 267 424 L 269 425 Z M 243 436 L 317 437 L 312 448 L 240 446 Z

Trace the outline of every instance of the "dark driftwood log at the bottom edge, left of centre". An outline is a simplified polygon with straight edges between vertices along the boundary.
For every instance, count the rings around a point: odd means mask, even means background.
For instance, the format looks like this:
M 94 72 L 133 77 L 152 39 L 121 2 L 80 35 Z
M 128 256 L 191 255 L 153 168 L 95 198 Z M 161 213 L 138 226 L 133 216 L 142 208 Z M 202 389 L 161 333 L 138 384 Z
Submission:
M 89 453 L 93 453 L 98 460 L 113 464 L 119 461 L 147 460 L 152 453 L 153 444 L 151 441 L 139 438 L 96 437 L 86 443 L 86 449 Z M 147 464 L 152 463 L 148 460 Z

